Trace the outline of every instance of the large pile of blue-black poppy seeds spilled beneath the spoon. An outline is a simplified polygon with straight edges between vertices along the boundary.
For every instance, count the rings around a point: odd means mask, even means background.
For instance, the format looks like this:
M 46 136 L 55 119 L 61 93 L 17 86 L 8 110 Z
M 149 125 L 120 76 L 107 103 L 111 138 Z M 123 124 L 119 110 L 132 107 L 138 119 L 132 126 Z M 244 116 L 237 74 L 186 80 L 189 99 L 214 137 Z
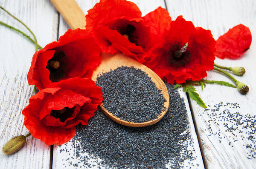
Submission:
M 193 140 L 189 132 L 186 106 L 177 89 L 166 83 L 170 105 L 166 115 L 151 126 L 133 128 L 109 119 L 100 109 L 86 126 L 78 126 L 70 141 L 73 149 L 65 167 L 114 169 L 179 169 L 193 163 Z M 66 143 L 67 145 L 67 143 Z M 63 147 L 63 148 L 62 148 Z M 65 160 L 65 159 L 64 159 Z M 69 166 L 67 166 L 67 163 Z M 92 164 L 93 163 L 93 164 Z

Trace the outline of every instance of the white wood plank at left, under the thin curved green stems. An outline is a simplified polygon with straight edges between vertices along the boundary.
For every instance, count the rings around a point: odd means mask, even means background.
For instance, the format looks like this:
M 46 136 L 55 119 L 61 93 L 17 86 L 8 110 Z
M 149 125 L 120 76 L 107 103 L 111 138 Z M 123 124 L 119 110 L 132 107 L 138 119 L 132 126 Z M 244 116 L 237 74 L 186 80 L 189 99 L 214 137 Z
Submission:
M 38 38 L 41 46 L 57 39 L 58 13 L 45 0 L 2 0 L 0 5 L 22 20 Z M 20 23 L 0 10 L 0 20 L 23 32 L 29 32 Z M 56 22 L 57 21 L 57 22 Z M 22 110 L 33 95 L 26 74 L 35 46 L 22 35 L 0 26 L 0 147 L 17 135 L 26 135 Z M 30 36 L 32 37 L 32 36 Z M 28 137 L 20 151 L 6 156 L 0 153 L 0 168 L 48 168 L 50 147 L 41 140 Z

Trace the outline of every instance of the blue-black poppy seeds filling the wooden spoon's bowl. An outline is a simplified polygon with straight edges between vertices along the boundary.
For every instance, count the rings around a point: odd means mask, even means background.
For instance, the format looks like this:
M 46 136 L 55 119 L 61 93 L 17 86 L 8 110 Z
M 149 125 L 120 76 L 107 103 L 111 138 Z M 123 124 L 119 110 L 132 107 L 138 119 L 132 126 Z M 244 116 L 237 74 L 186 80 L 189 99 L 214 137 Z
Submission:
M 166 111 L 166 99 L 148 75 L 134 67 L 119 67 L 97 77 L 103 106 L 122 120 L 143 123 Z

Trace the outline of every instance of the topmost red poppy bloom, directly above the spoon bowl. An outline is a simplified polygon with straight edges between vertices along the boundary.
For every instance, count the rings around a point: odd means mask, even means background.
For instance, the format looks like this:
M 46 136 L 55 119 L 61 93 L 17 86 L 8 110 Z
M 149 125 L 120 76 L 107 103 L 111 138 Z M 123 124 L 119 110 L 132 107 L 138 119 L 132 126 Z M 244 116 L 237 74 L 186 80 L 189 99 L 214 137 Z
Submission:
M 96 37 L 102 52 L 119 53 L 144 61 L 150 27 L 141 11 L 126 0 L 100 0 L 86 15 L 86 29 Z

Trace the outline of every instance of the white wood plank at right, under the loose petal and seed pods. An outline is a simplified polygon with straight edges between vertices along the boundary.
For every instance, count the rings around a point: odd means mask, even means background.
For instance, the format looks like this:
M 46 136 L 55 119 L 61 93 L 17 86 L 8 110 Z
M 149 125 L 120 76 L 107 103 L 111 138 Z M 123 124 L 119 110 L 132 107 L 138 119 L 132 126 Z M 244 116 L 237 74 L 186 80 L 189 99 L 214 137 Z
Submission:
M 248 26 L 252 35 L 256 34 L 256 2 L 253 0 L 198 0 L 196 2 L 183 0 L 180 3 L 167 0 L 166 3 L 173 20 L 178 15 L 183 15 L 186 20 L 191 20 L 195 26 L 210 29 L 215 39 L 240 23 Z M 244 76 L 234 76 L 250 87 L 246 96 L 241 95 L 234 88 L 207 85 L 204 91 L 201 87 L 197 87 L 197 90 L 208 105 L 208 109 L 201 108 L 194 100 L 191 101 L 209 169 L 247 169 L 256 166 L 255 133 L 249 134 L 251 130 L 255 130 L 255 123 L 247 128 L 244 128 L 246 122 L 236 124 L 240 118 L 241 122 L 242 120 L 248 122 L 255 120 L 255 118 L 248 118 L 255 115 L 256 109 L 254 87 L 256 68 L 253 64 L 256 62 L 255 52 L 256 40 L 253 38 L 250 49 L 241 59 L 221 60 L 217 58 L 215 60 L 216 64 L 223 66 L 244 66 L 247 71 Z M 214 71 L 208 73 L 207 79 L 225 80 L 232 83 L 227 77 Z M 233 105 L 227 105 L 227 103 L 233 103 Z M 238 103 L 239 107 L 235 103 Z M 231 118 L 230 115 L 237 116 Z

